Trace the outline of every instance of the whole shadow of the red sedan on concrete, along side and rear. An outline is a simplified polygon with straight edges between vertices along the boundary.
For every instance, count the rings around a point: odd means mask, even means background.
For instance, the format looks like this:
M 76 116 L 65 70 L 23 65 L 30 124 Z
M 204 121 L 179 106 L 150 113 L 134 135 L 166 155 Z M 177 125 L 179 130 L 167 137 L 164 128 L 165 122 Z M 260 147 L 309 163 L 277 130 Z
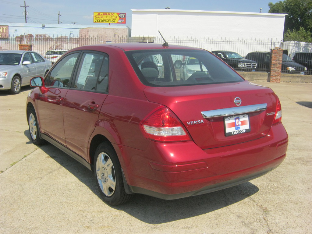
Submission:
M 72 173 L 102 200 L 95 179 L 93 178 L 93 173 L 88 168 L 52 144 L 46 143 L 40 149 Z M 177 200 L 162 200 L 143 194 L 135 194 L 129 202 L 110 207 L 124 211 L 142 222 L 161 224 L 195 217 L 230 206 L 252 196 L 258 191 L 258 187 L 250 182 L 246 182 L 213 193 Z

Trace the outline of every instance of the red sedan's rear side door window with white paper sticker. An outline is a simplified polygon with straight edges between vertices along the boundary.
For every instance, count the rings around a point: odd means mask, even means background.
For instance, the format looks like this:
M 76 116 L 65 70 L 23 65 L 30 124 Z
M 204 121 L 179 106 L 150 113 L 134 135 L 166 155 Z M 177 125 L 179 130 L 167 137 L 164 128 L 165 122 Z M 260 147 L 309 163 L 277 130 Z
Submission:
M 85 52 L 82 55 L 74 88 L 106 92 L 108 84 L 108 57 Z

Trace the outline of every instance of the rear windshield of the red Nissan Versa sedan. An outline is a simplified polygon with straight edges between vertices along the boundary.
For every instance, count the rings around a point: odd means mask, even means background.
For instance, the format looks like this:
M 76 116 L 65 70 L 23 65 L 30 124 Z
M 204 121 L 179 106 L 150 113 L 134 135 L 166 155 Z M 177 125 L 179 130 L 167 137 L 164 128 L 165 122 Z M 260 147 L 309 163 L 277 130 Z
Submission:
M 141 82 L 148 86 L 181 86 L 243 81 L 208 51 L 141 50 L 125 52 Z

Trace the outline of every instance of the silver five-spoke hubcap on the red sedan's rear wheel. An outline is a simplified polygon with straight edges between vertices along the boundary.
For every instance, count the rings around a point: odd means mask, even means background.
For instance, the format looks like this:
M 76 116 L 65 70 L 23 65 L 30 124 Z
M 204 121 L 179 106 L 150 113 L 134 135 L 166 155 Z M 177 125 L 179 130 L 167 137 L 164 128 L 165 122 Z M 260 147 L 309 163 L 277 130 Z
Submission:
M 97 157 L 96 175 L 105 196 L 112 196 L 116 188 L 116 179 L 114 165 L 108 154 L 100 153 Z

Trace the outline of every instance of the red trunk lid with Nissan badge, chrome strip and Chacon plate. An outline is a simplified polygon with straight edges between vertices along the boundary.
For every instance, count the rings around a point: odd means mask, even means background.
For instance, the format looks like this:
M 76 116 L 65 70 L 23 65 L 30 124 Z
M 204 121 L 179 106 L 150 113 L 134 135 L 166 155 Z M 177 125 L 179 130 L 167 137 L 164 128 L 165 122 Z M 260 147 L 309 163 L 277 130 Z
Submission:
M 176 87 L 148 86 L 144 94 L 149 101 L 170 108 L 202 149 L 264 137 L 271 128 L 278 99 L 270 88 L 248 81 Z

